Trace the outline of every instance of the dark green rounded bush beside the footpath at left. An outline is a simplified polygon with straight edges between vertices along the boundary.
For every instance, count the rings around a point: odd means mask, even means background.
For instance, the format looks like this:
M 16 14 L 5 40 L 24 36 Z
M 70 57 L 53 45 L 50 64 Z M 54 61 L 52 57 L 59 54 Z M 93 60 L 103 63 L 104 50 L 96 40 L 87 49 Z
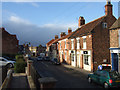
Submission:
M 14 66 L 15 73 L 25 73 L 26 66 L 27 63 L 23 59 L 17 59 Z

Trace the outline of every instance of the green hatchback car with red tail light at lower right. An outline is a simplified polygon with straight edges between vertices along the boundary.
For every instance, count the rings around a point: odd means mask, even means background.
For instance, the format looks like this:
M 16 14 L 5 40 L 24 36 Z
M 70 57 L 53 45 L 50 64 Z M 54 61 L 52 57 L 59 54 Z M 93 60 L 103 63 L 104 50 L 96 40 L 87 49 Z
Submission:
M 120 87 L 120 74 L 117 71 L 97 70 L 88 74 L 88 82 L 96 82 L 104 88 Z

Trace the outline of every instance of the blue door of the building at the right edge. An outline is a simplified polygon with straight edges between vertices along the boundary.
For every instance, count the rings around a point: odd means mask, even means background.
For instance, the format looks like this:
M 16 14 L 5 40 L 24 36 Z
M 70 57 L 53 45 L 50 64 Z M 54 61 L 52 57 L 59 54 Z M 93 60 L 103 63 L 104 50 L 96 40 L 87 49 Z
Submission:
M 112 53 L 112 70 L 118 71 L 118 55 Z

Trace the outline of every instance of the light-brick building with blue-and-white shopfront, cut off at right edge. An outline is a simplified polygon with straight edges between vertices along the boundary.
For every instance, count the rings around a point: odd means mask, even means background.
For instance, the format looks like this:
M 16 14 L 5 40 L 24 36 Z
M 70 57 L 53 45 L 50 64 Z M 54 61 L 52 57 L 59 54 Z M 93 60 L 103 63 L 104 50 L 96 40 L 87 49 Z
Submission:
M 110 27 L 110 58 L 112 70 L 120 72 L 120 17 Z

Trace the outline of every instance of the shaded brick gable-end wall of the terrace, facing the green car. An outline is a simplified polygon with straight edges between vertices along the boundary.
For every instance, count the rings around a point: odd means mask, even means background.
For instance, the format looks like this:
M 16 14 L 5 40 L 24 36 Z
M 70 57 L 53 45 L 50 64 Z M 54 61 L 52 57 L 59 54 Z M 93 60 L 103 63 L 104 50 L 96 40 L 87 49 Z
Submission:
M 104 19 L 103 22 L 107 23 L 107 27 L 110 28 L 111 25 L 115 22 L 113 16 L 108 16 Z M 107 59 L 107 62 L 110 63 L 110 38 L 109 30 L 104 29 L 102 23 L 100 23 L 93 33 L 93 60 L 94 60 L 94 70 L 97 69 L 98 65 L 103 63 L 103 59 Z

